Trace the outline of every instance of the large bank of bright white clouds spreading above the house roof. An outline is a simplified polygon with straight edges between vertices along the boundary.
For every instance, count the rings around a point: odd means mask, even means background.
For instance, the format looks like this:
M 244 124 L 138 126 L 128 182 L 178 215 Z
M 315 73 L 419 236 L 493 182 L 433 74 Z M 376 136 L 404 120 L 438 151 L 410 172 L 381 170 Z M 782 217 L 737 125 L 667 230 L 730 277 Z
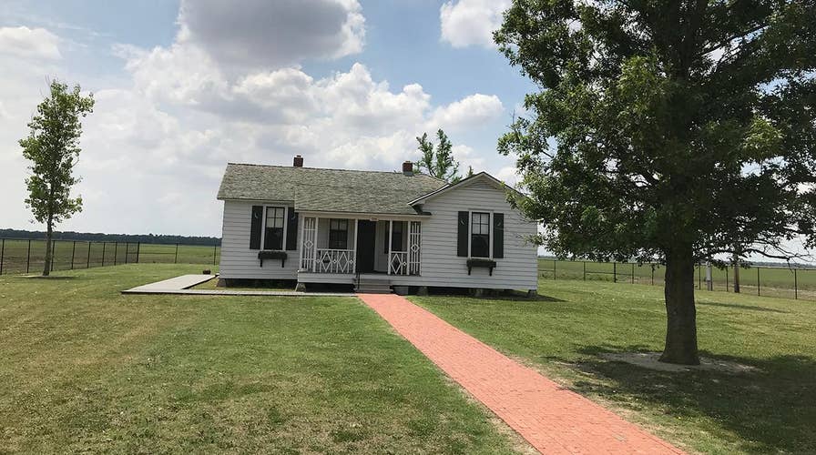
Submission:
M 124 62 L 117 80 L 125 82 L 94 87 L 97 102 L 83 122 L 76 168 L 85 209 L 59 228 L 219 235 L 215 193 L 228 161 L 289 164 L 301 154 L 307 166 L 398 169 L 419 157 L 415 136 L 437 127 L 456 132 L 454 156 L 463 172 L 503 166 L 501 159 L 482 158 L 495 153 L 492 143 L 477 152 L 457 141 L 502 114 L 497 96 L 474 94 L 439 105 L 420 84 L 390 86 L 361 63 L 321 77 L 300 66 L 360 50 L 364 18 L 356 0 L 309 0 L 306 9 L 322 12 L 325 30 L 301 24 L 302 30 L 262 31 L 264 43 L 241 29 L 262 26 L 249 16 L 274 10 L 294 24 L 305 20 L 287 12 L 297 2 L 250 2 L 241 5 L 246 11 L 233 12 L 228 9 L 235 5 L 207 9 L 209 1 L 183 2 L 179 34 L 169 45 L 114 46 Z M 208 14 L 213 17 L 202 16 Z M 252 51 L 230 54 L 240 46 Z M 43 96 L 43 72 L 65 74 L 69 63 L 38 61 L 26 69 L 19 61 L 0 53 L 0 69 L 10 72 L 0 86 L 0 115 L 11 117 L 0 123 L 6 144 L 25 135 L 26 119 Z M 0 163 L 0 189 L 10 195 L 4 213 L 14 214 L 6 223 L 29 227 L 22 203 L 25 160 L 5 154 Z

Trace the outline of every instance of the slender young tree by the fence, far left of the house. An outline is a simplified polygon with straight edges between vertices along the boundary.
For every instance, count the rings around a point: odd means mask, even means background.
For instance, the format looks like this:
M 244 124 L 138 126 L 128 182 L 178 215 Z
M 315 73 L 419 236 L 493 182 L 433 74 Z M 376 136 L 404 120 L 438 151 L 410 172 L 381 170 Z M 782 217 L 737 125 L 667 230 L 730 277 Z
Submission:
M 80 118 L 93 112 L 93 95 L 82 96 L 79 86 L 69 91 L 66 84 L 51 82 L 50 94 L 36 108 L 28 123 L 30 133 L 20 140 L 23 157 L 31 161 L 26 178 L 26 207 L 36 221 L 46 223 L 46 260 L 43 276 L 51 270 L 54 226 L 82 211 L 82 197 L 71 197 L 71 187 L 79 182 L 74 166 L 82 134 Z

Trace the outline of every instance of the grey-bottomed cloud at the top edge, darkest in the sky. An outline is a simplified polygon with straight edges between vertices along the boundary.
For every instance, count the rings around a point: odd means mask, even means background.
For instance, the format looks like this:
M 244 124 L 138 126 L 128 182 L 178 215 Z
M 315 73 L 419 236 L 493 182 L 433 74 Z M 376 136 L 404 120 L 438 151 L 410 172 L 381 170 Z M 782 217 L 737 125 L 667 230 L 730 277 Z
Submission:
M 228 66 L 280 67 L 304 58 L 362 51 L 365 18 L 357 0 L 185 0 L 179 42 Z

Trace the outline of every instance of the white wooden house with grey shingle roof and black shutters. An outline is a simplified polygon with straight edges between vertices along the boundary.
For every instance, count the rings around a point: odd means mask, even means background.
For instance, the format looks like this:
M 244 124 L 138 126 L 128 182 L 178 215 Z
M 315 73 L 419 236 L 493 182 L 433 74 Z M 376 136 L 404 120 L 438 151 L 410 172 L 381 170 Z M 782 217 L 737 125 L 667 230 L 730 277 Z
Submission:
M 391 287 L 537 288 L 535 222 L 486 173 L 455 184 L 403 172 L 229 164 L 221 284 L 291 279 Z

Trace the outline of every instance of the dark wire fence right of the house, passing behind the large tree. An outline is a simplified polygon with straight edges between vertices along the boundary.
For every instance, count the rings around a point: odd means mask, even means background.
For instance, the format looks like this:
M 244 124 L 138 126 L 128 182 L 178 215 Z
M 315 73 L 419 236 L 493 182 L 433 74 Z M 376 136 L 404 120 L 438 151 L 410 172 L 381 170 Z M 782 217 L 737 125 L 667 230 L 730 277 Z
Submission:
M 538 259 L 538 274 L 544 279 L 583 279 L 663 286 L 665 268 L 660 264 L 592 262 Z M 735 269 L 711 268 L 710 289 L 734 292 Z M 816 300 L 816 268 L 740 267 L 739 292 L 755 296 Z M 709 289 L 706 265 L 695 270 L 695 285 Z

